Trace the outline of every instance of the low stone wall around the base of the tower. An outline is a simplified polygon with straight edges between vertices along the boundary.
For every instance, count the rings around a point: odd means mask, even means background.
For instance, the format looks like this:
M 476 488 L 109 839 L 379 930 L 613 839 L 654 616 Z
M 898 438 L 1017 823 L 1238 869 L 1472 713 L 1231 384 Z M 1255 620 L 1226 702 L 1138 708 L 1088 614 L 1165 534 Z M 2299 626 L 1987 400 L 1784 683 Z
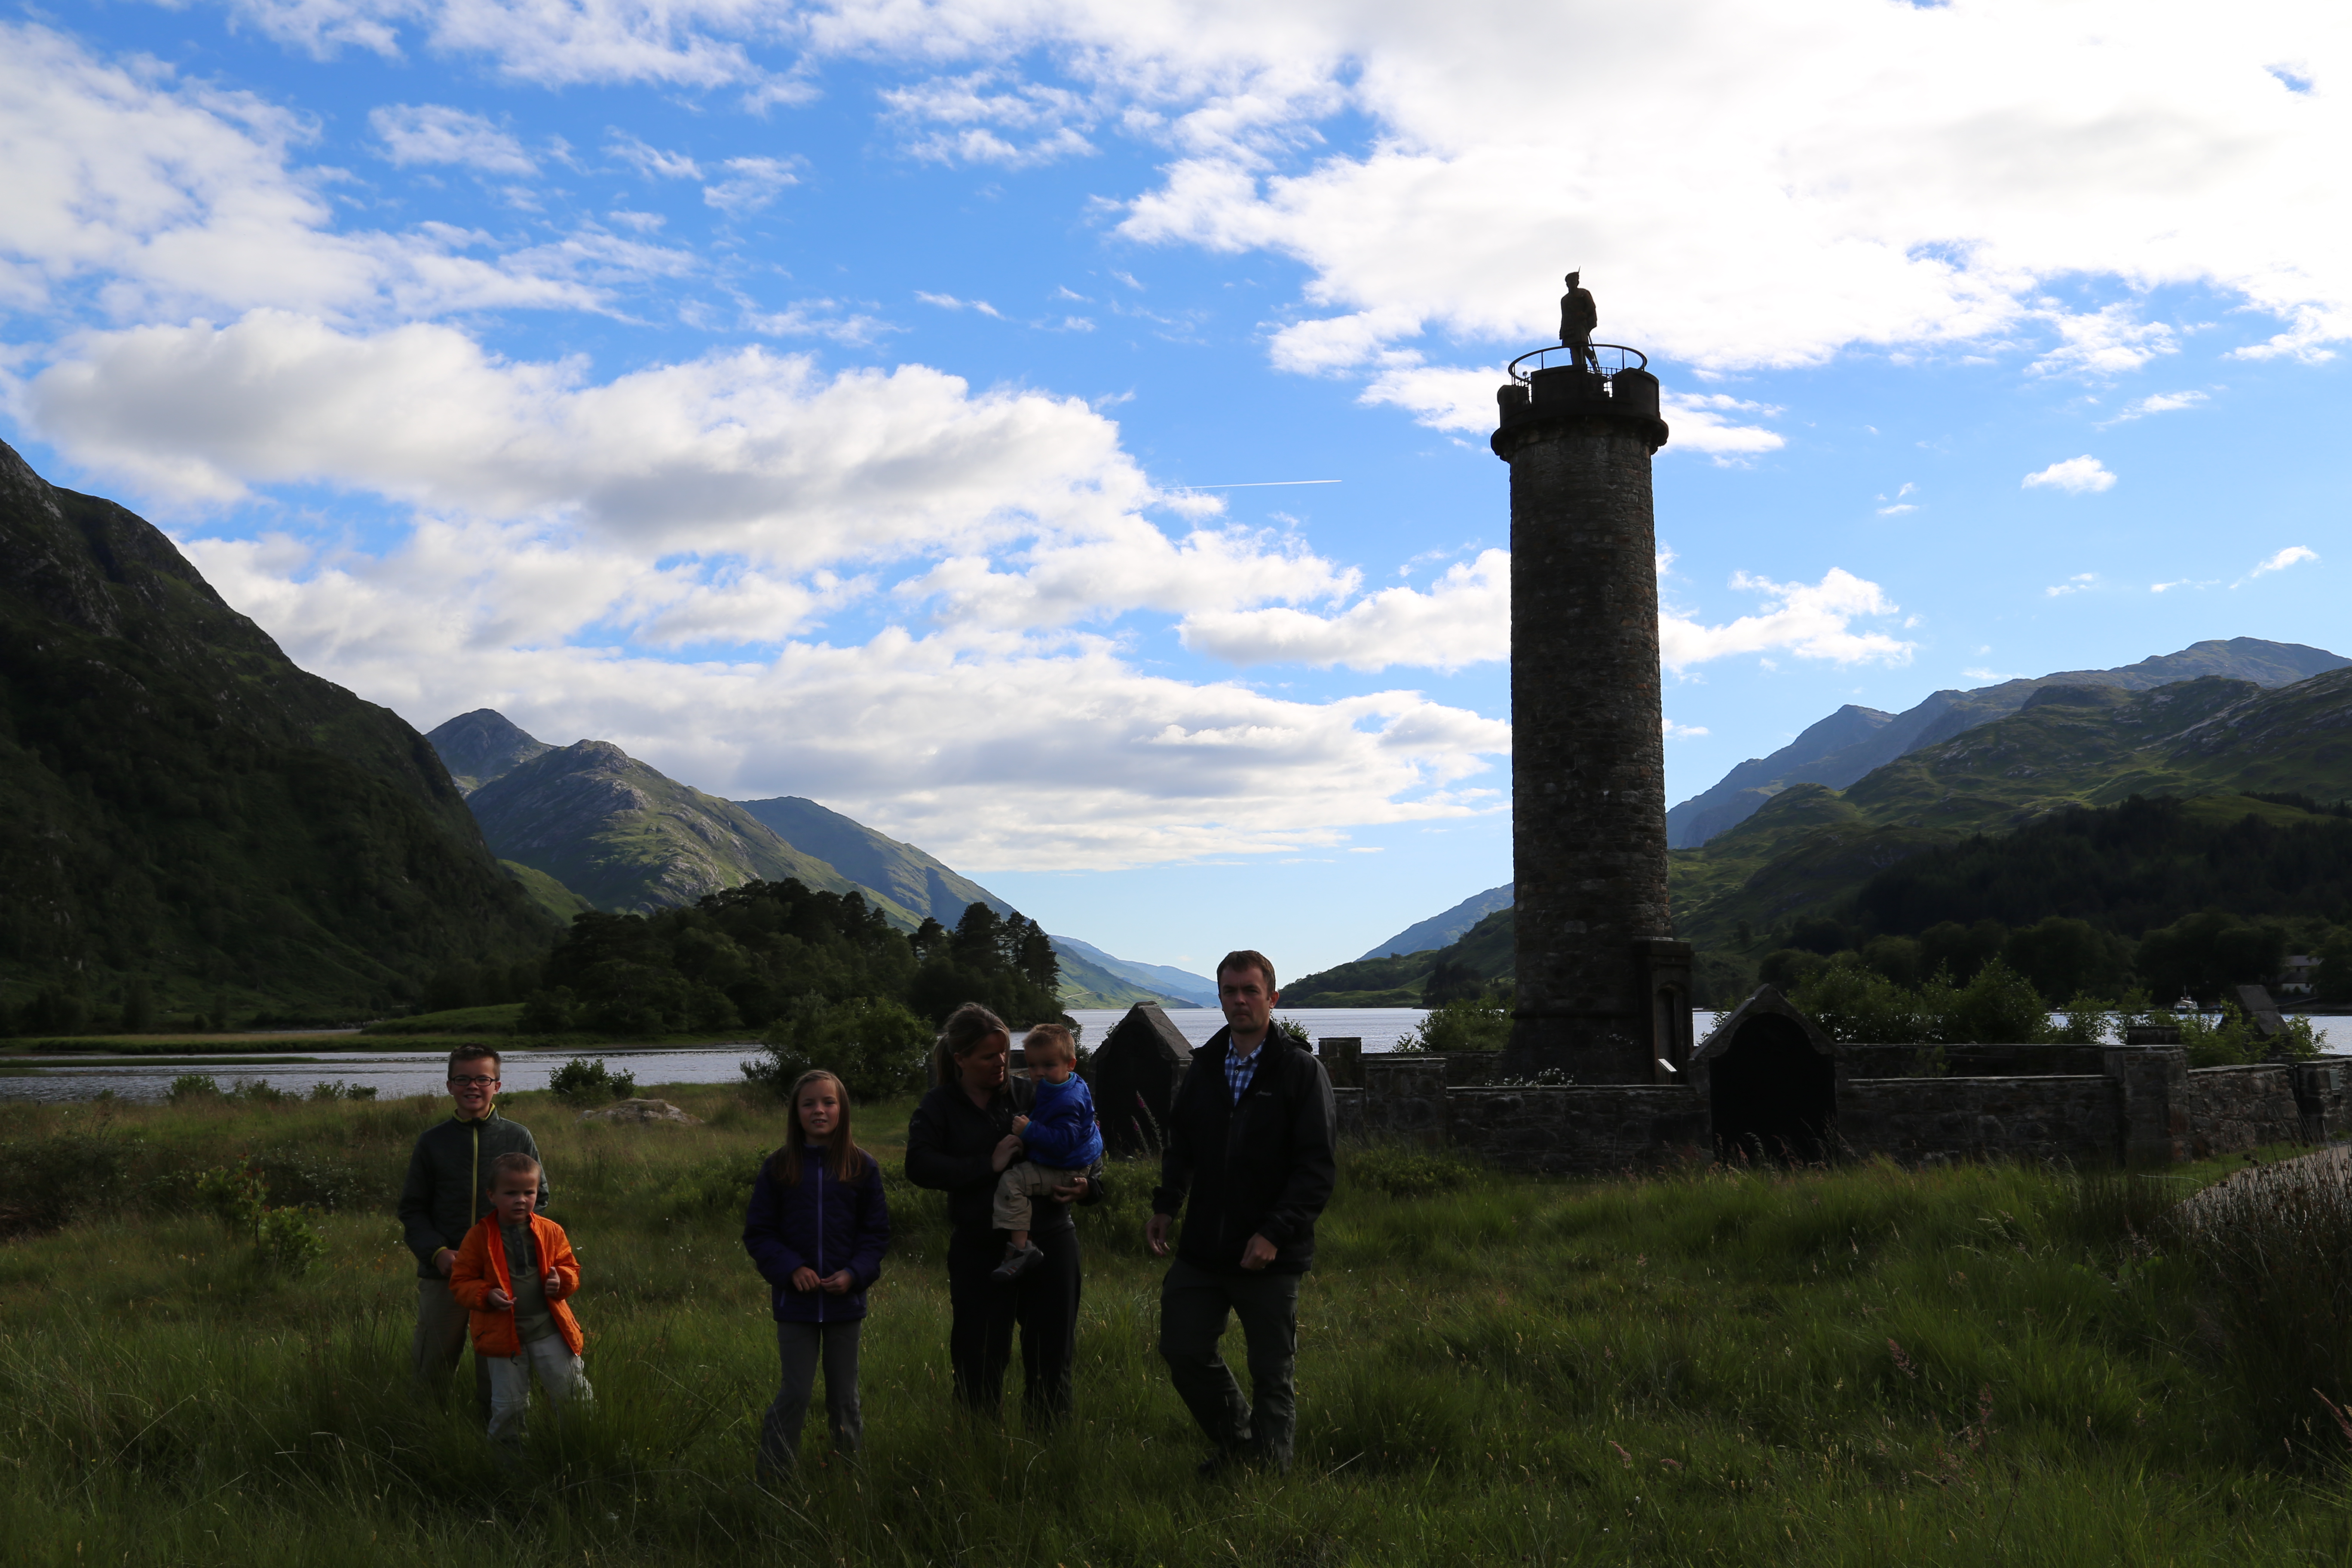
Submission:
M 2065 1058 L 2072 1060 L 2072 1058 Z M 1604 1175 L 1712 1152 L 1705 1093 L 1649 1084 L 1489 1088 L 1484 1063 L 1362 1058 L 1343 1138 L 1456 1147 L 1508 1171 Z M 2352 1119 L 2352 1060 L 2187 1067 L 2178 1046 L 2105 1046 L 2100 1072 L 1863 1077 L 1839 1088 L 1835 1145 L 1903 1164 L 2025 1159 L 2100 1166 L 2317 1143 Z

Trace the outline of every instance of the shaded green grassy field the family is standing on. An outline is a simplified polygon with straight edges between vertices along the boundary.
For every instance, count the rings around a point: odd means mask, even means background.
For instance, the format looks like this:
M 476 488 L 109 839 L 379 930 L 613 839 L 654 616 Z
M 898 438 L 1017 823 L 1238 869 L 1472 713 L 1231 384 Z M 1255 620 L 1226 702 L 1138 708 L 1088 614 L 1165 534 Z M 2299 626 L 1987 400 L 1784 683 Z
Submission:
M 2183 1234 L 2145 1180 L 2020 1168 L 1534 1182 L 1355 1152 L 1301 1302 L 1301 1465 L 1240 1486 L 1152 1354 L 1148 1175 L 1084 1213 L 1077 1418 L 962 1420 L 943 1225 L 894 1180 L 868 1453 L 764 1493 L 781 1117 L 529 1124 L 586 1269 L 593 1415 L 501 1465 L 407 1389 L 390 1194 L 430 1100 L 0 1107 L 0 1509 L 40 1563 L 2310 1563 L 2352 1556 L 2343 1192 Z M 906 1105 L 863 1112 L 896 1171 Z M 191 1178 L 332 1206 L 256 1269 Z M 2265 1208 L 2272 1213 L 2277 1206 Z M 2331 1218 L 2336 1215 L 2336 1218 Z M 2328 1229 L 2333 1225 L 2333 1229 Z M 26 1229 L 52 1227 L 52 1229 Z M 2201 1239 L 2199 1239 L 2201 1237 Z M 1228 1340 L 1237 1356 L 1237 1340 Z M 1018 1380 L 1018 1373 L 1016 1373 Z M 463 1401 L 459 1401 L 463 1403 Z

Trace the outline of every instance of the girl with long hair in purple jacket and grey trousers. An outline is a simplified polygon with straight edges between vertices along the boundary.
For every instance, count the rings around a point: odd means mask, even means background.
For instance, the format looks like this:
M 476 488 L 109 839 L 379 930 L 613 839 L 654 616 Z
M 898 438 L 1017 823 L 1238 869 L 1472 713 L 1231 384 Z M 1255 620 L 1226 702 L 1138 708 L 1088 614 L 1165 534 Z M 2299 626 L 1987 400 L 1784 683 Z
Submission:
M 866 1321 L 866 1288 L 882 1279 L 889 1251 L 882 1166 L 851 1143 L 849 1091 L 830 1072 L 802 1072 L 793 1084 L 793 1124 L 750 1187 L 743 1251 L 776 1302 L 783 1387 L 760 1425 L 760 1476 L 783 1481 L 800 1458 L 800 1425 L 818 1363 L 833 1448 L 858 1450 L 866 1434 L 858 1324 Z

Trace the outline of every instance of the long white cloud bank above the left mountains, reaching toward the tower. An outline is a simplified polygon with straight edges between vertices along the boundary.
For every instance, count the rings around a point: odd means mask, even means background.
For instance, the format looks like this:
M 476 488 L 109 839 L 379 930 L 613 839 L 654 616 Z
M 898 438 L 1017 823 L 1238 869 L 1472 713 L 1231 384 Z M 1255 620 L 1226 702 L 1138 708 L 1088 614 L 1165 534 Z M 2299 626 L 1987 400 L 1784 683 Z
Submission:
M 673 663 L 567 646 L 579 607 L 630 564 L 524 550 L 510 529 L 426 524 L 407 550 L 350 562 L 183 545 L 299 663 L 419 726 L 492 705 L 717 795 L 814 795 L 976 872 L 1329 846 L 1362 823 L 1503 804 L 1475 778 L 1510 726 L 1411 691 L 1301 703 L 1138 672 L 1103 639 L 969 628 Z

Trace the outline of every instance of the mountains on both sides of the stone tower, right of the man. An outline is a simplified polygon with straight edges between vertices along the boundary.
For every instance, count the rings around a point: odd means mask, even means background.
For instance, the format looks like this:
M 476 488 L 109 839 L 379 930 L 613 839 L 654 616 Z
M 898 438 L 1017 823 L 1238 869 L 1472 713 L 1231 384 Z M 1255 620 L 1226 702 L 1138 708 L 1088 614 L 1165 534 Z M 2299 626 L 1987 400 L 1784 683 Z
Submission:
M 1703 952 L 1740 947 L 1740 931 L 1750 945 L 1769 940 L 1778 924 L 1837 905 L 1924 849 L 2009 835 L 2063 806 L 2166 795 L 2244 813 L 2267 809 L 2256 795 L 2352 797 L 2352 661 L 2253 637 L 2199 642 L 2122 670 L 1940 691 L 1903 715 L 1844 708 L 1743 769 L 1684 802 L 1712 797 L 1710 809 L 1738 816 L 1670 860 L 1675 933 Z M 1755 778 L 1771 785 L 1743 783 Z M 1505 907 L 1461 926 L 1496 896 Z M 1284 999 L 1402 1006 L 1439 964 L 1508 980 L 1510 926 L 1505 884 L 1296 980 Z

